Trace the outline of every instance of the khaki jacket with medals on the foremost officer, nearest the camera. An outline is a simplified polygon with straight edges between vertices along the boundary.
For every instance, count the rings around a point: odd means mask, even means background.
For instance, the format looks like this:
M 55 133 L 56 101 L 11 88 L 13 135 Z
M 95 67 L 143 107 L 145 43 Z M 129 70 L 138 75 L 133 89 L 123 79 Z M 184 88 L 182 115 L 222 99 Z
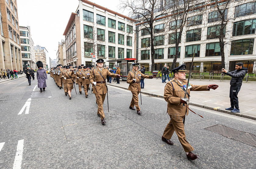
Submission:
M 187 84 L 187 80 L 182 81 L 183 85 Z M 188 108 L 183 106 L 180 103 L 180 98 L 185 96 L 185 91 L 183 91 L 182 85 L 176 78 L 173 78 L 170 82 L 167 82 L 164 90 L 164 98 L 167 104 L 167 113 L 172 116 L 185 116 L 186 112 L 188 115 Z M 182 88 L 181 88 L 182 87 Z M 192 85 L 191 88 L 187 90 L 187 93 L 190 94 L 190 91 L 209 91 L 207 90 L 207 85 Z M 188 95 L 187 95 L 187 98 Z

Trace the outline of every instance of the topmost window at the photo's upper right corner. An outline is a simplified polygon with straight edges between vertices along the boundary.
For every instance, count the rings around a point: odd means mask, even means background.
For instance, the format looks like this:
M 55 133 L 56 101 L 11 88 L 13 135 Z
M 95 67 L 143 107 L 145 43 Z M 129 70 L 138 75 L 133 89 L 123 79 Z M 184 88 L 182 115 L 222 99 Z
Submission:
M 249 2 L 235 7 L 235 18 L 240 16 L 252 15 L 256 13 L 256 2 Z

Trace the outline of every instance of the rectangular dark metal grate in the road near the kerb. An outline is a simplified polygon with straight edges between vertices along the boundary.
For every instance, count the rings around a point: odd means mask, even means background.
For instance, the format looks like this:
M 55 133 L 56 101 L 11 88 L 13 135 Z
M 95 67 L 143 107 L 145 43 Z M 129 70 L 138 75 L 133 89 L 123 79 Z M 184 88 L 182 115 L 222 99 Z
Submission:
M 232 140 L 240 141 L 242 143 L 256 147 L 256 136 L 253 134 L 250 134 L 244 131 L 235 130 L 233 128 L 229 128 L 221 124 L 207 127 L 205 128 L 205 130 L 209 130 L 214 133 L 218 133 L 224 137 L 230 138 Z

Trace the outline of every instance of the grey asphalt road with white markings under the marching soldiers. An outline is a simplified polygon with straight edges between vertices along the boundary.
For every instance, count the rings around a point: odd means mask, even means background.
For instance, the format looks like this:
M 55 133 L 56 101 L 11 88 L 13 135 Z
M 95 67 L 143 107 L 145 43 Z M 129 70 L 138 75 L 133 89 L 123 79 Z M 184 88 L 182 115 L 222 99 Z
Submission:
M 204 117 L 186 117 L 186 138 L 200 156 L 190 161 L 175 133 L 174 145 L 161 140 L 169 122 L 162 98 L 142 95 L 140 116 L 129 109 L 130 91 L 109 86 L 102 125 L 91 91 L 85 98 L 76 85 L 69 100 L 49 75 L 42 93 L 31 81 L 0 84 L 0 168 L 256 168 L 254 120 L 190 106 Z M 218 124 L 227 137 L 205 130 Z

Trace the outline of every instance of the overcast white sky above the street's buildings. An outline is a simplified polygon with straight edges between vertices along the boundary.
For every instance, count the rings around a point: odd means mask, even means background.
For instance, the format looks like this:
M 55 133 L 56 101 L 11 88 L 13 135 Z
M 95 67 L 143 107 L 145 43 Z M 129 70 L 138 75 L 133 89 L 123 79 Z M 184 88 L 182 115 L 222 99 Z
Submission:
M 90 1 L 120 12 L 118 0 Z M 78 4 L 78 0 L 17 0 L 19 25 L 30 26 L 34 46 L 44 46 L 51 59 L 56 59 L 58 42 L 65 39 L 63 32 L 71 12 L 76 12 Z

